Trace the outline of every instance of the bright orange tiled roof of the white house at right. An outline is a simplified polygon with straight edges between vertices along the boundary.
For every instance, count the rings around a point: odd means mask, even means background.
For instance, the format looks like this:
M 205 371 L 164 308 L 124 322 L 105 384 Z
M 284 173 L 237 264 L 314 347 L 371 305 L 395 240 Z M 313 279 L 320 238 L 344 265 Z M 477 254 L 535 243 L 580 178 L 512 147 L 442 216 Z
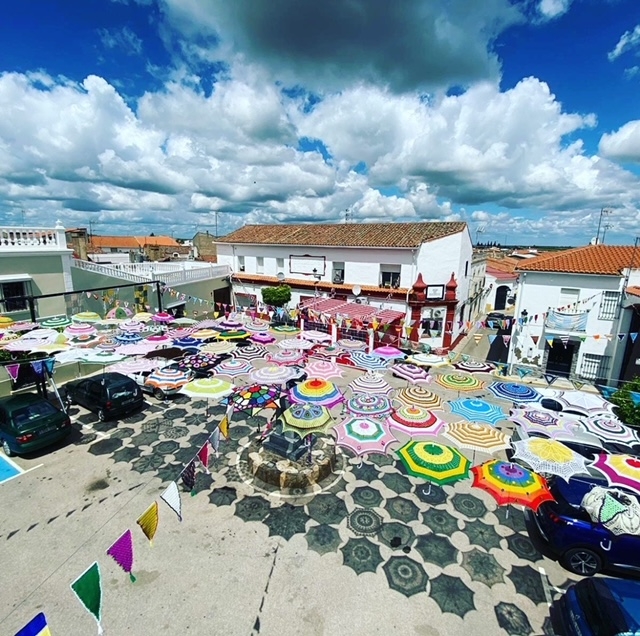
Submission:
M 587 245 L 562 252 L 551 252 L 519 263 L 516 271 L 563 272 L 568 274 L 620 275 L 634 264 L 640 269 L 640 250 L 629 245 Z

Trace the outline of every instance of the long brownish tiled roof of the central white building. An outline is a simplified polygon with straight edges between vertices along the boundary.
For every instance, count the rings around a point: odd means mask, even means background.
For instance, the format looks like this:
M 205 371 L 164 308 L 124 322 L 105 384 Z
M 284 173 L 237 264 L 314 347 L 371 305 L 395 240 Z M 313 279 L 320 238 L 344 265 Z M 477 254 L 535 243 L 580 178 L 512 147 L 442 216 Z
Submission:
M 245 225 L 220 243 L 255 245 L 308 245 L 318 247 L 418 247 L 463 232 L 462 222 L 423 223 L 310 223 L 298 225 Z

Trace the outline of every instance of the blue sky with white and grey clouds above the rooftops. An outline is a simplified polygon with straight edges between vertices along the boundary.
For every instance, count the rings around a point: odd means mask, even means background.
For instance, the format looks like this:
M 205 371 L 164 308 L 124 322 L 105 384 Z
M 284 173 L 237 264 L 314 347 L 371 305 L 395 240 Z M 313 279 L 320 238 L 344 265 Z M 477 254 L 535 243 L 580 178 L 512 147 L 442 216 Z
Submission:
M 635 0 L 32 0 L 0 38 L 4 225 L 638 234 Z

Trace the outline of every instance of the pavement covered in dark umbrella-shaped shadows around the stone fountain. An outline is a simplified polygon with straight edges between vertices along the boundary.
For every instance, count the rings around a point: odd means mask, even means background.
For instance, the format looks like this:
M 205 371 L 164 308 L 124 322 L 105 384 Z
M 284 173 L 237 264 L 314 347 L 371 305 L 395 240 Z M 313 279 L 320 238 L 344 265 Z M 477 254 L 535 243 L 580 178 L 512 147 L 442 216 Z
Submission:
M 72 415 L 109 433 L 100 439 L 86 432 L 80 443 L 89 453 L 168 483 L 207 439 L 208 422 L 223 413 L 219 406 L 207 412 L 207 406 L 179 397 L 168 408 L 153 405 L 117 424 L 96 422 L 77 408 Z M 234 420 L 230 439 L 212 460 L 212 474 L 198 472 L 195 490 L 206 493 L 211 505 L 229 507 L 245 523 L 264 524 L 270 536 L 282 540 L 302 535 L 309 550 L 340 554 L 344 567 L 357 575 L 378 573 L 406 597 L 426 593 L 443 613 L 464 617 L 490 599 L 505 633 L 534 633 L 520 607 L 491 596 L 491 588 L 506 585 L 512 595 L 546 603 L 536 565 L 542 557 L 519 509 L 511 507 L 507 514 L 484 493 L 468 492 L 468 486 L 429 485 L 385 455 L 365 461 L 342 455 L 339 474 L 316 490 L 275 492 L 254 483 L 243 457 L 250 436 L 265 424 L 260 416 Z M 480 599 L 478 585 L 487 588 Z M 537 633 L 551 633 L 548 622 L 537 627 Z

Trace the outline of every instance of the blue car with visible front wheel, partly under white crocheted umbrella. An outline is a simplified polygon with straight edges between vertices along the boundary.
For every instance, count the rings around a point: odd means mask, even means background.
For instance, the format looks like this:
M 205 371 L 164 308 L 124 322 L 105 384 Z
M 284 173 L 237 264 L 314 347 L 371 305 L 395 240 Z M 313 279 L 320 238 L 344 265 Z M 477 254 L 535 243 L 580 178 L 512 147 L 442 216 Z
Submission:
M 537 512 L 525 511 L 532 541 L 567 570 L 582 576 L 607 571 L 621 576 L 640 573 L 640 536 L 616 535 L 592 521 L 580 507 L 593 486 L 606 486 L 595 477 L 574 477 L 568 482 L 549 481 L 556 501 L 545 502 Z

